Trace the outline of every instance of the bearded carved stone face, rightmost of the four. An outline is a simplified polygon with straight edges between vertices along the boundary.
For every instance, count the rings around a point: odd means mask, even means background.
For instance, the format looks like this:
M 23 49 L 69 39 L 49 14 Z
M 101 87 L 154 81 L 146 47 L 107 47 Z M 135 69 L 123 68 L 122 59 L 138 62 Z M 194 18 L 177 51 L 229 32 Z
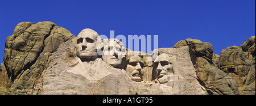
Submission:
M 160 54 L 154 61 L 154 67 L 156 67 L 156 78 L 160 83 L 167 83 L 167 75 L 174 74 L 172 63 L 170 62 L 170 57 L 168 54 Z

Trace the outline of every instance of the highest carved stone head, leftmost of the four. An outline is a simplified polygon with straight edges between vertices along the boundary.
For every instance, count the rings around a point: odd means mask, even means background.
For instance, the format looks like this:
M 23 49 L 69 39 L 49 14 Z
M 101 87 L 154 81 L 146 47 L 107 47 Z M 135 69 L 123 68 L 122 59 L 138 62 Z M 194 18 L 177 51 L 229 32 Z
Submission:
M 98 33 L 92 29 L 83 29 L 76 37 L 76 54 L 81 60 L 97 58 Z

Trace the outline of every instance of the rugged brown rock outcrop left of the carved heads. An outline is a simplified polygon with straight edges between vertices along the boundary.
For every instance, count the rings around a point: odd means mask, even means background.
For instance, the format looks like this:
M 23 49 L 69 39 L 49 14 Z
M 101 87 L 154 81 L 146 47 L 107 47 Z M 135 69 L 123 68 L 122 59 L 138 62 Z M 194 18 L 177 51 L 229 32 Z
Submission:
M 61 43 L 75 38 L 52 22 L 19 23 L 8 36 L 1 64 L 1 86 L 7 94 L 36 94 L 35 85 L 48 66 L 48 57 Z

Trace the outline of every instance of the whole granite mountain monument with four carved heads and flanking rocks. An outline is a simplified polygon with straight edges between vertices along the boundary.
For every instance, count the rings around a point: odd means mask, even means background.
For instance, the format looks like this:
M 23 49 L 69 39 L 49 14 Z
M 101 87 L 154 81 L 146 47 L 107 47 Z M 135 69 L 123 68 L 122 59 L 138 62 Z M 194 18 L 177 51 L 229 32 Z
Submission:
M 220 56 L 197 39 L 147 54 L 89 28 L 75 37 L 21 22 L 6 39 L 0 94 L 255 94 L 255 36 Z

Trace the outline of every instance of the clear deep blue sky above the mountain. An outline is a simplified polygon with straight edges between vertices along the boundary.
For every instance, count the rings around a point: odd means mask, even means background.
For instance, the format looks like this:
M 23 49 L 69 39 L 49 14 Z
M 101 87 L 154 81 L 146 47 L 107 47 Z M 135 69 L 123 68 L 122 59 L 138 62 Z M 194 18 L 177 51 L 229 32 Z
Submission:
M 255 36 L 255 0 L 0 1 L 0 62 L 5 40 L 20 22 L 51 21 L 77 36 L 84 28 L 99 35 L 159 35 L 159 48 L 199 39 L 220 54 Z

